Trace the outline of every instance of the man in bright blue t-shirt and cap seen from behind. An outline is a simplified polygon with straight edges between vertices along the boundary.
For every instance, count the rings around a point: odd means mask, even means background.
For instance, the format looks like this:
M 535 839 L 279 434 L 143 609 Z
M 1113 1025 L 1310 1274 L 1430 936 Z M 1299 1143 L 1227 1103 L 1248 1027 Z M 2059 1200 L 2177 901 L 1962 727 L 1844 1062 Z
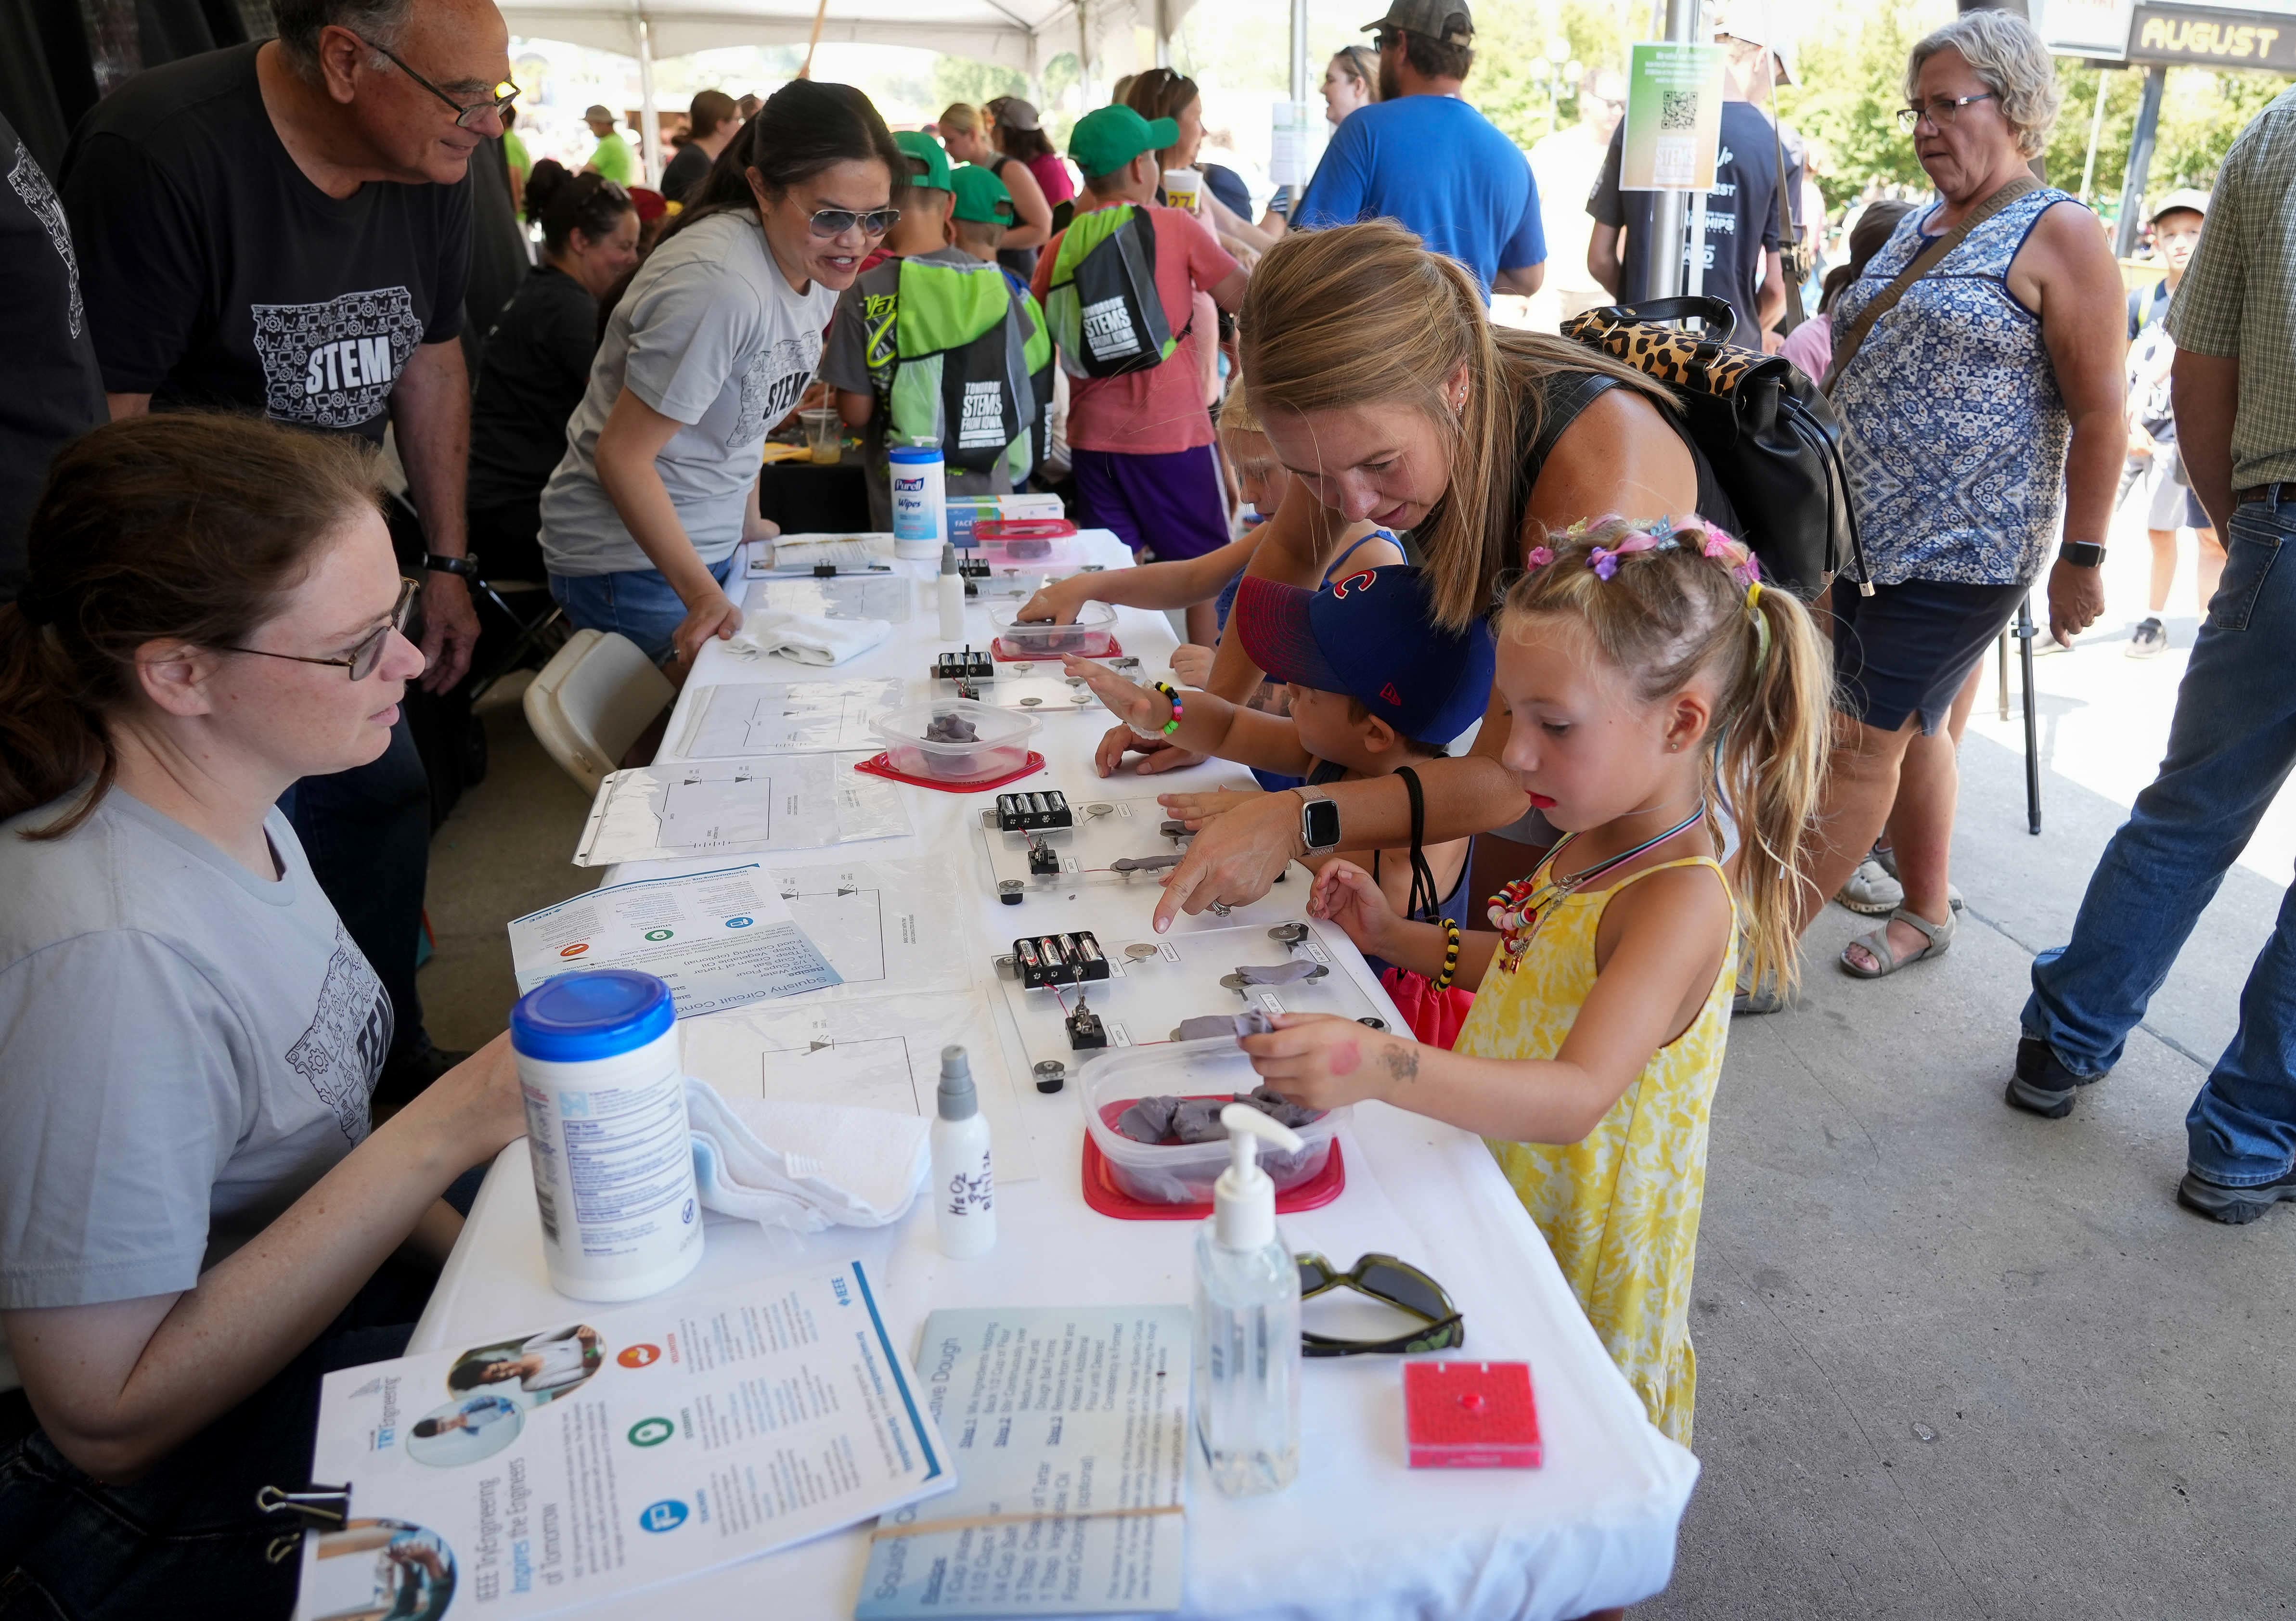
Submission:
M 1458 99 L 1474 67 L 1465 2 L 1394 0 L 1364 32 L 1380 46 L 1380 101 L 1332 135 L 1293 225 L 1401 220 L 1474 271 L 1486 294 L 1538 292 L 1548 239 L 1531 165 Z

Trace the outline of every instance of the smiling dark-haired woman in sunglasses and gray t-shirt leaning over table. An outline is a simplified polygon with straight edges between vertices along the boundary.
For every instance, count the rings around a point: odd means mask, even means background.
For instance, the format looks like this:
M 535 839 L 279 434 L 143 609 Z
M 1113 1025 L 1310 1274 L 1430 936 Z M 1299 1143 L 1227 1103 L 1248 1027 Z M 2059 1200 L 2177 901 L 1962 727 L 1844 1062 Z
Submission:
M 542 491 L 551 595 L 574 625 L 684 668 L 742 611 L 758 457 L 822 358 L 822 328 L 893 223 L 900 152 L 859 90 L 794 80 L 719 154 L 638 266 Z

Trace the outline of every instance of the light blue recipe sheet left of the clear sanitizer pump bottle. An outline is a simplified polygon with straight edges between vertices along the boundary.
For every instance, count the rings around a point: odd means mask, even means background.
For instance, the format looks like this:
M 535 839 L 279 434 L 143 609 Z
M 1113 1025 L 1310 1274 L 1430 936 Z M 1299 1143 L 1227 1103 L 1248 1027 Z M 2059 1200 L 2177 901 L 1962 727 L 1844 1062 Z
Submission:
M 957 1488 L 877 1522 L 856 1621 L 1178 1610 L 1192 1355 L 1187 1306 L 925 1318 Z

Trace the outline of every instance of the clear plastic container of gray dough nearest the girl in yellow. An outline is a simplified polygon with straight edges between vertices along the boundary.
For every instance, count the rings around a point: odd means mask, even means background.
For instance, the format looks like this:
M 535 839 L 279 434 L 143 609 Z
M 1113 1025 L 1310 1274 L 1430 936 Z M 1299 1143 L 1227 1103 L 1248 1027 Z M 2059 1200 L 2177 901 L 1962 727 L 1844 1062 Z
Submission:
M 1210 1143 L 1134 1143 L 1116 1130 L 1116 1116 L 1141 1098 L 1242 1098 L 1261 1086 L 1251 1058 L 1233 1036 L 1153 1047 L 1107 1047 L 1077 1075 L 1084 1130 L 1109 1162 L 1109 1180 L 1150 1205 L 1208 1205 L 1212 1182 L 1228 1169 L 1226 1132 Z M 1322 1173 L 1348 1109 L 1332 1109 L 1313 1125 L 1295 1127 L 1306 1148 L 1297 1155 L 1261 1150 L 1261 1169 L 1281 1194 Z

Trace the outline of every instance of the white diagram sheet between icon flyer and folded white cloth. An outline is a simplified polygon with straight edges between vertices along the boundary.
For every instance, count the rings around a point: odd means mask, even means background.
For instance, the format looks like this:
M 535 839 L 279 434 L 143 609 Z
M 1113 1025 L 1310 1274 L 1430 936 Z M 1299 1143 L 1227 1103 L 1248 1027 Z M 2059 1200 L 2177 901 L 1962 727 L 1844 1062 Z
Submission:
M 941 1047 L 964 1047 L 999 1182 L 1035 1176 L 1019 1111 L 1022 1065 L 980 992 L 751 1006 L 677 1026 L 687 1075 L 728 1098 L 893 1109 L 930 1120 Z

